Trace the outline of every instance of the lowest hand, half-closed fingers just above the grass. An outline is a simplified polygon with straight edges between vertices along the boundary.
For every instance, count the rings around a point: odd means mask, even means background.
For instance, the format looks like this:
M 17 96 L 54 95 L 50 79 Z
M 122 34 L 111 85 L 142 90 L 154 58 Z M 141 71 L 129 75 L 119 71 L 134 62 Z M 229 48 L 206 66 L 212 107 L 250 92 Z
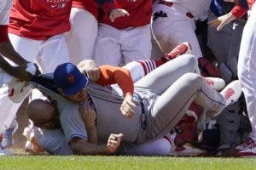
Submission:
M 107 144 L 108 150 L 110 153 L 115 152 L 115 150 L 117 150 L 119 148 L 122 138 L 123 138 L 122 133 L 110 134 L 110 136 L 108 137 L 108 144 Z

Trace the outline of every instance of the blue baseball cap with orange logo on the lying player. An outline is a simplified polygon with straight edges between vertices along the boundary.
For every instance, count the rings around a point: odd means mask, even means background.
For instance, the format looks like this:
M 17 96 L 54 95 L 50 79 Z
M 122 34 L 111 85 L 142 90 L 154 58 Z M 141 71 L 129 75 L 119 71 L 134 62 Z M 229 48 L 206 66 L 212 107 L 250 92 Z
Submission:
M 64 94 L 74 95 L 87 86 L 89 79 L 79 71 L 76 65 L 64 63 L 55 68 L 54 81 Z

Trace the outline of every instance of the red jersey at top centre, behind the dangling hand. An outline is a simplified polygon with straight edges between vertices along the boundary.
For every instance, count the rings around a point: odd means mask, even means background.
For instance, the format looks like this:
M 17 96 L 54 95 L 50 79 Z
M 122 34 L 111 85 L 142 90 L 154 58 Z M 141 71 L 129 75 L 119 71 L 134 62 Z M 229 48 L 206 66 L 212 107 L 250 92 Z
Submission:
M 124 8 L 130 15 L 119 17 L 113 22 L 109 20 L 109 11 L 113 8 Z M 113 0 L 113 3 L 102 5 L 100 22 L 117 29 L 145 26 L 150 23 L 152 15 L 152 0 Z

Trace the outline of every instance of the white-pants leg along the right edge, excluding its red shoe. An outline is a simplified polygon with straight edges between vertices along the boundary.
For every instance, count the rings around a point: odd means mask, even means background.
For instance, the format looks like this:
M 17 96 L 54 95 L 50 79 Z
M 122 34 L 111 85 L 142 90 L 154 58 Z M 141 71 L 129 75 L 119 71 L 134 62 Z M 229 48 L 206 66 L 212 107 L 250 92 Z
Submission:
M 238 77 L 244 93 L 252 126 L 250 137 L 256 141 L 256 8 L 247 20 L 241 37 Z

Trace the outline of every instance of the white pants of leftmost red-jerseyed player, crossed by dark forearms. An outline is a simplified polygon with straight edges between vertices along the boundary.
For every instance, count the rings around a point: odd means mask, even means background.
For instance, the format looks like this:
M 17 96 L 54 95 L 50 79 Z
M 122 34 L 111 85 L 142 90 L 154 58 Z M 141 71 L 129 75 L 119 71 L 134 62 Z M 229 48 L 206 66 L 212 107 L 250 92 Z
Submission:
M 38 63 L 43 73 L 54 71 L 57 65 L 68 61 L 67 43 L 63 35 L 46 41 L 36 41 L 9 34 L 15 50 L 26 60 Z M 5 130 L 15 118 L 20 105 L 8 97 L 8 87 L 0 89 L 0 130 Z

